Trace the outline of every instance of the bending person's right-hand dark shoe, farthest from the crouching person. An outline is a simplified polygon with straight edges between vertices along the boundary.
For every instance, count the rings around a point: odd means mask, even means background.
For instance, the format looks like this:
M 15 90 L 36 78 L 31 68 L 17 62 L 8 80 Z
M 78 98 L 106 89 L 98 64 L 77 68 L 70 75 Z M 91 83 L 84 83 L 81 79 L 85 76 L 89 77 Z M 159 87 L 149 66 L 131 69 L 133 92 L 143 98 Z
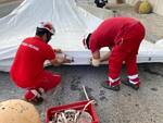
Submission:
M 126 86 L 128 86 L 128 87 L 131 87 L 131 88 L 135 89 L 135 90 L 138 90 L 138 89 L 139 89 L 140 83 L 138 83 L 138 84 L 133 84 L 133 83 L 129 83 L 128 79 L 122 79 L 121 82 L 122 82 L 124 85 L 126 85 Z

